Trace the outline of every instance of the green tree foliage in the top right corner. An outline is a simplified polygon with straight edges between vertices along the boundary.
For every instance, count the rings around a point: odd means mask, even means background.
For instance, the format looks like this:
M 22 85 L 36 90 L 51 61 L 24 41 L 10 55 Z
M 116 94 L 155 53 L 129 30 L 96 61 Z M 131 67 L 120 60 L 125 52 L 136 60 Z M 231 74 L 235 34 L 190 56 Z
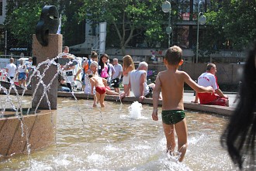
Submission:
M 223 32 L 236 50 L 242 50 L 256 37 L 256 1 L 223 1 L 219 19 L 223 16 Z

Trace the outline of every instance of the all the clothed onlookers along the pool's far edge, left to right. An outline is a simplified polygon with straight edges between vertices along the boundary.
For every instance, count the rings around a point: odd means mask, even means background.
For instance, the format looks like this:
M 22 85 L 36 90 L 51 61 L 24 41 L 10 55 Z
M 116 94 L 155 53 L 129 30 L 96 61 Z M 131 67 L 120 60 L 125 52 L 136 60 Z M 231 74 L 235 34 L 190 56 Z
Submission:
M 74 60 L 76 57 L 69 53 L 68 46 L 64 46 L 61 58 Z M 135 97 L 139 97 L 139 101 L 143 101 L 146 97 L 152 97 L 155 84 L 147 84 L 148 64 L 146 62 L 139 63 L 136 69 L 133 58 L 130 55 L 123 56 L 122 64 L 119 63 L 117 58 L 112 59 L 112 63 L 110 63 L 109 56 L 106 53 L 98 56 L 95 51 L 92 51 L 89 58 L 83 57 L 82 59 L 81 63 L 71 65 L 66 65 L 66 63 L 62 62 L 62 70 L 64 70 L 66 76 L 71 76 L 71 79 L 67 79 L 67 77 L 60 74 L 58 76 L 58 91 L 73 91 L 71 83 L 78 80 L 78 76 L 81 74 L 81 91 L 84 91 L 85 94 L 92 94 L 91 89 L 93 89 L 93 94 L 97 94 L 95 87 L 91 85 L 91 78 L 88 77 L 90 74 L 93 74 L 106 79 L 106 94 L 119 95 L 123 98 L 130 96 L 130 91 L 132 91 Z M 92 64 L 92 62 L 96 62 L 98 65 L 95 66 L 95 63 Z M 32 58 L 29 58 L 29 63 L 26 64 L 20 59 L 18 67 L 14 64 L 14 59 L 11 58 L 10 63 L 6 66 L 6 71 L 9 76 L 8 80 L 18 79 L 19 86 L 25 87 L 28 72 L 31 68 L 29 66 L 31 65 Z M 75 71 L 75 67 L 77 67 L 78 70 Z M 198 78 L 198 84 L 203 87 L 213 87 L 214 93 L 196 93 L 195 100 L 192 101 L 193 103 L 229 106 L 227 95 L 223 94 L 217 83 L 216 72 L 216 65 L 214 63 L 208 63 L 206 72 L 201 74 Z M 123 93 L 120 93 L 120 87 L 123 87 Z M 159 99 L 161 99 L 161 94 L 159 94 Z

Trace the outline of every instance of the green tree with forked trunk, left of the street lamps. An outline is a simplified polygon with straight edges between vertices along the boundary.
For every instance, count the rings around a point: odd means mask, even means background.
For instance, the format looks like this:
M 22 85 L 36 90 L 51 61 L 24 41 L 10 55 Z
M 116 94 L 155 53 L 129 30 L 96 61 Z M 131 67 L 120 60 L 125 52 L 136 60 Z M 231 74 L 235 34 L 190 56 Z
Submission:
M 119 38 L 122 53 L 125 55 L 130 40 L 142 32 L 148 39 L 162 41 L 161 2 L 161 0 L 84 0 L 79 15 L 81 19 L 89 19 L 92 25 L 99 22 L 112 25 Z

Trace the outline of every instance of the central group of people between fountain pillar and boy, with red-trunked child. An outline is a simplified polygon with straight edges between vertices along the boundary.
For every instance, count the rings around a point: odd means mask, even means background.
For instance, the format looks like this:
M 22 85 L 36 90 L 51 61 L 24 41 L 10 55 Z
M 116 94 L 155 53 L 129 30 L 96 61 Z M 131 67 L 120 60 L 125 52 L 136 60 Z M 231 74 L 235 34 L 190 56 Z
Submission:
M 69 49 L 67 46 L 64 46 L 62 58 L 71 59 L 68 54 Z M 106 53 L 99 57 L 95 51 L 92 51 L 89 59 L 83 58 L 78 72 L 76 74 L 73 73 L 74 80 L 77 79 L 78 74 L 82 74 L 82 91 L 85 94 L 95 94 L 94 107 L 98 103 L 100 103 L 101 107 L 105 106 L 104 97 L 106 94 L 119 95 L 123 98 L 130 96 L 130 89 L 135 97 L 139 97 L 140 101 L 143 101 L 145 97 L 152 96 L 154 84 L 147 85 L 147 63 L 140 63 L 138 69 L 135 70 L 133 58 L 129 55 L 123 57 L 123 64 L 120 64 L 117 58 L 112 59 L 112 63 L 109 60 L 109 56 Z M 64 68 L 64 65 L 61 65 L 61 67 L 67 72 L 67 68 Z M 68 70 L 73 68 L 74 66 L 69 67 Z M 58 91 L 72 91 L 67 79 L 65 80 L 61 74 L 58 79 Z M 122 94 L 120 93 L 121 85 L 123 85 L 125 90 L 125 93 Z

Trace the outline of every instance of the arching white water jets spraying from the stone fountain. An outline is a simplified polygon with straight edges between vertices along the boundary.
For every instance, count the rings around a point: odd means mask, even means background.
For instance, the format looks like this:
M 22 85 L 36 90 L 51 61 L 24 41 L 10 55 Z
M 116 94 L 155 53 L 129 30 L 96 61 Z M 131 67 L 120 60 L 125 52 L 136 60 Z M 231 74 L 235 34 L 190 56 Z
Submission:
M 1 102 L 1 115 L 0 117 L 4 117 L 5 115 L 5 108 L 8 108 L 9 105 L 8 104 L 11 104 L 11 108 L 13 111 L 16 112 L 16 118 L 19 119 L 20 121 L 20 126 L 21 126 L 21 134 L 22 136 L 24 136 L 26 134 L 26 149 L 27 149 L 27 154 L 29 156 L 29 161 L 31 162 L 31 158 L 30 158 L 30 152 L 31 152 L 31 149 L 30 149 L 30 143 L 29 143 L 29 132 L 28 132 L 28 128 L 26 127 L 25 123 L 24 123 L 24 119 L 23 119 L 23 109 L 22 109 L 22 98 L 23 98 L 23 95 L 26 93 L 27 91 L 27 87 L 29 85 L 31 85 L 31 82 L 32 82 L 32 78 L 33 77 L 36 77 L 38 79 L 38 82 L 37 84 L 35 85 L 35 89 L 33 90 L 33 94 L 32 94 L 32 99 L 35 97 L 36 95 L 36 91 L 38 90 L 38 88 L 40 87 L 40 85 L 43 86 L 43 94 L 42 96 L 40 97 L 40 101 L 38 102 L 38 104 L 36 104 L 36 108 L 34 109 L 34 114 L 36 114 L 36 111 L 37 109 L 39 108 L 39 105 L 41 103 L 41 101 L 43 100 L 43 97 L 46 97 L 47 98 L 47 105 L 49 107 L 49 110 L 51 111 L 51 108 L 50 108 L 50 101 L 49 101 L 49 97 L 47 95 L 47 92 L 50 91 L 50 87 L 51 85 L 54 83 L 54 80 L 57 78 L 58 74 L 61 74 L 61 76 L 63 76 L 65 78 L 65 80 L 68 80 L 67 79 L 67 75 L 66 75 L 66 72 L 63 70 L 63 68 L 61 68 L 61 65 L 60 63 L 56 63 L 56 60 L 58 58 L 61 58 L 63 55 L 65 54 L 59 54 L 58 56 L 56 56 L 55 58 L 53 59 L 47 59 L 45 61 L 43 61 L 42 63 L 38 63 L 38 65 L 35 67 L 35 66 L 32 66 L 32 72 L 30 74 L 30 76 L 28 77 L 28 81 L 27 81 L 27 84 L 26 86 L 24 87 L 23 91 L 22 91 L 22 94 L 20 95 L 19 92 L 17 91 L 16 89 L 16 85 L 14 84 L 13 80 L 9 77 L 8 73 L 6 73 L 5 71 L 3 71 L 2 73 L 5 74 L 9 80 L 10 80 L 10 86 L 9 86 L 9 90 L 2 86 L 1 83 L 0 83 L 0 91 L 3 91 L 4 94 L 5 94 L 5 98 L 2 98 L 0 97 L 0 102 Z M 74 61 L 77 61 L 74 57 Z M 71 65 L 71 62 L 70 63 L 66 63 L 65 66 L 68 66 L 68 65 Z M 47 70 L 51 67 L 51 66 L 56 66 L 57 67 L 57 73 L 54 74 L 52 76 L 52 79 L 50 80 L 50 83 L 49 84 L 46 84 L 43 82 L 43 78 L 46 76 L 46 72 Z M 43 68 L 42 72 L 40 72 L 40 68 Z M 70 82 L 69 82 L 70 83 Z M 13 97 L 10 96 L 11 92 L 14 91 L 15 94 L 16 94 L 16 99 L 12 99 Z M 71 92 L 71 94 L 73 95 L 74 97 L 74 100 L 77 102 L 77 98 L 74 96 L 74 91 Z M 14 101 L 17 101 L 18 104 L 16 104 Z M 77 104 L 77 103 L 76 103 Z M 78 105 L 78 104 L 77 104 Z M 27 115 L 29 114 L 29 111 L 30 111 L 30 108 L 32 108 L 32 101 L 29 105 L 29 108 L 27 110 Z M 80 108 L 78 106 L 78 114 L 81 115 L 81 111 L 80 111 Z M 55 125 L 54 125 L 54 121 L 53 121 L 53 115 L 52 115 L 52 125 L 54 127 L 54 131 L 55 131 Z M 83 127 L 85 129 L 85 123 L 84 123 L 84 119 L 83 117 L 81 116 L 81 121 L 83 122 Z M 56 140 L 56 137 L 55 137 L 55 140 Z M 57 142 L 57 141 L 55 141 Z

